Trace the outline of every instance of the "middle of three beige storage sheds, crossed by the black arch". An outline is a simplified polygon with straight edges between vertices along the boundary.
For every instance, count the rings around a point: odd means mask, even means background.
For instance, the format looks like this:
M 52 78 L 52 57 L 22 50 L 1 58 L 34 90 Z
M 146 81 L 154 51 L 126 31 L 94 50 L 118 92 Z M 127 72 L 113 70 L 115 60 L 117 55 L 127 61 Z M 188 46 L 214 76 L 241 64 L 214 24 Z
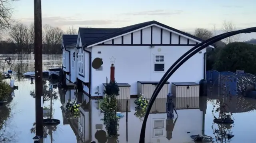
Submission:
M 151 98 L 154 90 L 156 89 L 156 86 L 158 82 L 154 81 L 138 81 L 138 96 L 144 95 L 146 98 Z M 166 95 L 168 94 L 168 84 L 170 82 L 166 82 L 164 84 L 163 88 L 159 92 L 158 96 L 156 98 L 166 98 Z

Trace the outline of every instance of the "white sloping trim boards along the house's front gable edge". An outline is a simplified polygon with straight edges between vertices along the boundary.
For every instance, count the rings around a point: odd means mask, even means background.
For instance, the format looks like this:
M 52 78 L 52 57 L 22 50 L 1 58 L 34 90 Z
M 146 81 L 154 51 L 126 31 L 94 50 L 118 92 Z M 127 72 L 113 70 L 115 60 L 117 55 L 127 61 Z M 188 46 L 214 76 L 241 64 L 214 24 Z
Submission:
M 124 33 L 124 34 L 122 34 L 122 35 L 118 35 L 118 36 L 116 36 L 116 37 L 112 37 L 112 38 L 110 38 L 110 39 L 106 39 L 106 40 L 104 40 L 104 41 L 100 41 L 100 42 L 98 42 L 98 43 L 95 43 L 95 44 L 92 44 L 92 45 L 88 45 L 87 47 L 88 47 L 88 48 L 89 48 L 89 47 L 93 47 L 93 46 L 96 46 L 96 45 L 98 45 L 98 44 L 104 43 L 104 42 L 106 42 L 106 41 L 110 41 L 110 40 L 112 40 L 112 39 L 116 39 L 116 38 L 118 38 L 118 37 L 122 37 L 122 36 L 124 36 L 124 35 L 128 35 L 128 34 L 130 34 L 130 33 L 134 33 L 134 32 L 136 32 L 136 31 L 140 31 L 141 29 L 145 29 L 145 28 L 148 28 L 148 27 L 151 27 L 151 26 L 156 26 L 156 27 L 165 29 L 166 31 L 170 31 L 170 32 L 172 32 L 172 33 L 175 33 L 175 34 L 177 34 L 177 35 L 180 35 L 180 36 L 182 36 L 182 37 L 188 38 L 188 39 L 190 39 L 190 40 L 192 40 L 192 41 L 195 41 L 195 42 L 198 42 L 198 43 L 201 43 L 201 42 L 202 42 L 202 41 L 196 40 L 196 39 L 194 39 L 194 38 L 192 38 L 192 37 L 189 37 L 189 36 L 183 35 L 183 34 L 181 34 L 181 33 L 178 33 L 178 32 L 176 32 L 176 31 L 172 31 L 172 30 L 170 30 L 170 29 L 168 29 L 168 28 L 162 27 L 162 26 L 160 26 L 160 25 L 151 24 L 151 25 L 148 25 L 148 26 L 145 26 L 145 27 L 142 27 L 142 28 L 139 28 L 139 29 L 130 31 L 130 32 L 128 32 L 128 33 Z M 214 46 L 212 46 L 212 45 L 210 45 L 209 47 L 214 48 Z

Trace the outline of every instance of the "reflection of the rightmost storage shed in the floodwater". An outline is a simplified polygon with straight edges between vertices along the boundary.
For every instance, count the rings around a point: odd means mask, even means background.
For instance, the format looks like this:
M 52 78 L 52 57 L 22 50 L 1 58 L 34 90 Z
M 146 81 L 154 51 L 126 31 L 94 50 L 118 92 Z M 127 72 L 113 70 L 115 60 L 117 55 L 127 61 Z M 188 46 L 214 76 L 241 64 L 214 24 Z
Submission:
M 177 97 L 173 100 L 175 108 L 179 109 L 199 109 L 198 97 Z

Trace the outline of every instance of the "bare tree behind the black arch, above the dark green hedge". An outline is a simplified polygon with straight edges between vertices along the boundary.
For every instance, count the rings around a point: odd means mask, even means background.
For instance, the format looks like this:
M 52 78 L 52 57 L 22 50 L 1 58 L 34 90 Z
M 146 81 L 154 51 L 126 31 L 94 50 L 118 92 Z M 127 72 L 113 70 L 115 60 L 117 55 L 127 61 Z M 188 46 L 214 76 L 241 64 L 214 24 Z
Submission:
M 236 25 L 233 24 L 233 22 L 231 22 L 231 21 L 224 21 L 223 22 L 222 31 L 224 33 L 235 31 L 235 30 L 237 30 L 237 28 L 236 28 Z M 229 44 L 229 43 L 233 43 L 235 41 L 239 41 L 239 39 L 240 39 L 240 35 L 238 34 L 238 35 L 234 35 L 234 36 L 231 36 L 231 37 L 228 37 L 228 38 L 224 39 L 224 42 L 226 44 Z

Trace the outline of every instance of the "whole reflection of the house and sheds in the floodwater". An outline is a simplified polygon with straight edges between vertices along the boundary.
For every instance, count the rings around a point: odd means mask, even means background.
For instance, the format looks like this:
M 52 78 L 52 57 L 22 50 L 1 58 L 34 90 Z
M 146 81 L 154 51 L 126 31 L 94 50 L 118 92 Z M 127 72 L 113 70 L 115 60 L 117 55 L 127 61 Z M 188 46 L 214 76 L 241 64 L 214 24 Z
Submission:
M 74 90 L 67 91 L 65 100 L 74 95 Z M 79 93 L 78 102 L 82 103 L 81 114 L 78 119 L 68 119 L 70 126 L 77 135 L 78 143 L 113 143 L 108 139 L 105 126 L 101 120 L 104 116 L 98 110 L 97 100 L 90 100 L 85 94 Z M 120 111 L 124 115 L 119 120 L 118 137 L 119 143 L 137 143 L 140 137 L 142 121 L 134 116 L 135 107 L 134 98 L 128 102 L 128 125 L 126 126 L 126 100 L 119 101 Z M 63 103 L 62 103 L 63 104 Z M 204 116 L 206 113 L 206 98 L 189 97 L 174 98 L 174 104 L 178 112 L 178 118 L 167 119 L 166 99 L 156 99 L 146 126 L 146 143 L 192 143 L 190 135 L 204 135 Z M 73 123 L 72 123 L 72 120 Z M 76 123 L 74 123 L 76 122 Z M 127 131 L 126 131 L 127 127 Z M 128 134 L 128 139 L 126 135 Z M 128 141 L 126 141 L 128 140 Z

